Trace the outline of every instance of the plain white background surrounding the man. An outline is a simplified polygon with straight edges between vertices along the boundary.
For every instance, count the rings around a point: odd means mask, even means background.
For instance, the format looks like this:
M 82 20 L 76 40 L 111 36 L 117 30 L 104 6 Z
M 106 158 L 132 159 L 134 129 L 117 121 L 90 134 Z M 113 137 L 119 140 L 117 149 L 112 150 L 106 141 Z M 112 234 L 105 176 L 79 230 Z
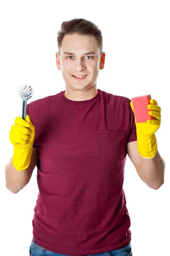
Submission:
M 110 2 L 110 3 L 109 3 Z M 164 184 L 150 189 L 127 157 L 124 190 L 130 214 L 133 256 L 170 253 L 170 2 L 8 1 L 0 3 L 0 230 L 1 255 L 26 256 L 37 200 L 37 168 L 17 194 L 6 189 L 5 165 L 13 154 L 9 131 L 21 116 L 22 83 L 34 87 L 29 102 L 65 90 L 55 53 L 61 23 L 85 18 L 102 31 L 105 68 L 97 88 L 132 98 L 151 94 L 161 107 L 156 132 L 166 163 Z

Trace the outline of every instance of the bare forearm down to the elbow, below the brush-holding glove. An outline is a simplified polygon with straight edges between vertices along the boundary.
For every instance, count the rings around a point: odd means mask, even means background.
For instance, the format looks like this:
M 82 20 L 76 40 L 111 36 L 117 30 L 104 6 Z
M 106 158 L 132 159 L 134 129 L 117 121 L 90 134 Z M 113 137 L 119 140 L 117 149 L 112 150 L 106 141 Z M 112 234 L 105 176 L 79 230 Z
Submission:
M 18 172 L 15 169 L 12 160 L 10 160 L 5 167 L 5 176 L 6 176 L 6 187 L 13 193 L 17 193 L 24 186 L 26 186 L 30 180 L 30 166 Z

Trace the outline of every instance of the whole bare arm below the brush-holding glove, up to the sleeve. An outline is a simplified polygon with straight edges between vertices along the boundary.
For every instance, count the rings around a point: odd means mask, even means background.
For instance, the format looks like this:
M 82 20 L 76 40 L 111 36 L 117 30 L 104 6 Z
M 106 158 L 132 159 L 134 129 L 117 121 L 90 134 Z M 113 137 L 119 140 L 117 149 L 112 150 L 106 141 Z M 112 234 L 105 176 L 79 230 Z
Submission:
M 32 148 L 31 163 L 30 166 L 23 170 L 17 171 L 15 169 L 12 159 L 6 164 L 5 176 L 6 176 L 6 187 L 12 193 L 16 194 L 23 189 L 30 181 L 32 173 L 38 162 L 38 149 Z

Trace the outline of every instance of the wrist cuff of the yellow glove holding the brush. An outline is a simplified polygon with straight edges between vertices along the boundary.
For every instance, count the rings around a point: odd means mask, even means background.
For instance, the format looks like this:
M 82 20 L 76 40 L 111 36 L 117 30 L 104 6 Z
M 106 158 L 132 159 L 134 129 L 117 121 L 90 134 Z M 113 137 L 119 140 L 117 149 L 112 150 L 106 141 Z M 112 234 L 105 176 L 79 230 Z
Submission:
M 12 163 L 17 171 L 23 171 L 28 168 L 31 163 L 32 146 L 27 150 L 14 148 Z

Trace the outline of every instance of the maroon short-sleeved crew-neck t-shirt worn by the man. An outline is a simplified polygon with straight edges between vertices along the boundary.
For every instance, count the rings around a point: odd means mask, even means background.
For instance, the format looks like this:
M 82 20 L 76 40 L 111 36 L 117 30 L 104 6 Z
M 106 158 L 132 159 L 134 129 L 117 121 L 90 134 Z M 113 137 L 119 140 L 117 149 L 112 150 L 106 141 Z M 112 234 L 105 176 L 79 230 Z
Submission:
M 126 145 L 136 140 L 130 99 L 97 89 L 93 99 L 72 101 L 61 91 L 29 103 L 27 114 L 39 152 L 34 241 L 72 256 L 125 247 Z

